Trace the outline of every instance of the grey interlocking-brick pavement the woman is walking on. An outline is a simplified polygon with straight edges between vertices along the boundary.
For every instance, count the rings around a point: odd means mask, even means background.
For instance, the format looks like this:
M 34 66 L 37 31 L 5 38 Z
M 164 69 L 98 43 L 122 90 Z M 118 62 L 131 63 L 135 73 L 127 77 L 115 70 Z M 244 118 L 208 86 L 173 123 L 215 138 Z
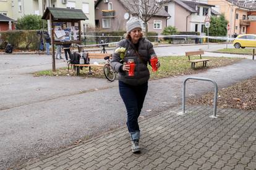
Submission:
M 23 169 L 255 169 L 256 111 L 170 108 L 140 119 L 142 152 L 133 154 L 126 127 Z

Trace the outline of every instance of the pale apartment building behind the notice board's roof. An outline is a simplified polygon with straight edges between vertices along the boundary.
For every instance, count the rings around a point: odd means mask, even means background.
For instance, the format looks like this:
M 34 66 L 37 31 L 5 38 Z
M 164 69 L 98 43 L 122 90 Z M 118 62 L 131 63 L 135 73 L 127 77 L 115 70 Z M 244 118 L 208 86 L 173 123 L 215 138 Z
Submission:
M 92 0 L 1 0 L 0 13 L 14 20 L 29 15 L 43 15 L 46 7 L 82 9 L 88 20 L 82 21 L 82 30 L 95 26 L 95 9 Z

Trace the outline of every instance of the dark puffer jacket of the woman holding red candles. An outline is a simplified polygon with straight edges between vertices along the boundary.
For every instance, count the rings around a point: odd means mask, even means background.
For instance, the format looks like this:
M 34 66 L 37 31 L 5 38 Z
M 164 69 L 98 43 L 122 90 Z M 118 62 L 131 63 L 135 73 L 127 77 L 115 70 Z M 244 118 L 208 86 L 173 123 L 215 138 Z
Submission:
M 111 65 L 114 70 L 118 72 L 118 79 L 126 84 L 130 84 L 132 86 L 137 86 L 143 83 L 146 83 L 150 78 L 150 73 L 147 67 L 147 64 L 150 64 L 150 56 L 155 54 L 153 49 L 153 45 L 150 41 L 145 38 L 139 39 L 139 48 L 138 53 L 136 53 L 136 48 L 134 44 L 129 39 L 122 39 L 118 42 L 117 47 L 125 47 L 126 55 L 124 56 L 124 62 L 127 62 L 129 59 L 134 59 L 135 62 L 135 70 L 134 76 L 128 76 L 127 71 L 122 70 L 122 62 L 120 58 L 120 54 L 114 53 L 113 60 Z

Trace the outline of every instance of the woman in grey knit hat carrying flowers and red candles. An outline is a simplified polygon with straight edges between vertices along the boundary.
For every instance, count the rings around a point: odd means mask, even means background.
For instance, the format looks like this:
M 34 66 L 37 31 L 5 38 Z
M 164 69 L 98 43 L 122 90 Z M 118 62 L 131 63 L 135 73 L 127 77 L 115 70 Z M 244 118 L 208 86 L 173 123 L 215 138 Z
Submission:
M 155 51 L 151 42 L 143 38 L 140 20 L 130 18 L 126 23 L 126 31 L 126 39 L 118 42 L 111 65 L 118 72 L 119 93 L 126 105 L 126 124 L 132 140 L 132 152 L 140 152 L 138 118 L 148 91 L 150 72 L 147 65 L 150 64 L 150 56 L 155 55 Z M 128 74 L 130 67 L 127 61 L 130 59 L 135 62 L 134 76 Z M 160 67 L 159 62 L 157 67 Z

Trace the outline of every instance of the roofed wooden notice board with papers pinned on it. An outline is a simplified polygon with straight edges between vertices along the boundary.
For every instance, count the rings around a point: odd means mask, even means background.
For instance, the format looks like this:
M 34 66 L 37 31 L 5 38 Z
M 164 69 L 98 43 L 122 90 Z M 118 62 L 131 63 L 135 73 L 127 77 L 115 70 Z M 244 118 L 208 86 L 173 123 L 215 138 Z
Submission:
M 51 25 L 53 71 L 55 66 L 54 44 L 81 44 L 81 20 L 88 20 L 81 9 L 47 7 L 42 17 Z

